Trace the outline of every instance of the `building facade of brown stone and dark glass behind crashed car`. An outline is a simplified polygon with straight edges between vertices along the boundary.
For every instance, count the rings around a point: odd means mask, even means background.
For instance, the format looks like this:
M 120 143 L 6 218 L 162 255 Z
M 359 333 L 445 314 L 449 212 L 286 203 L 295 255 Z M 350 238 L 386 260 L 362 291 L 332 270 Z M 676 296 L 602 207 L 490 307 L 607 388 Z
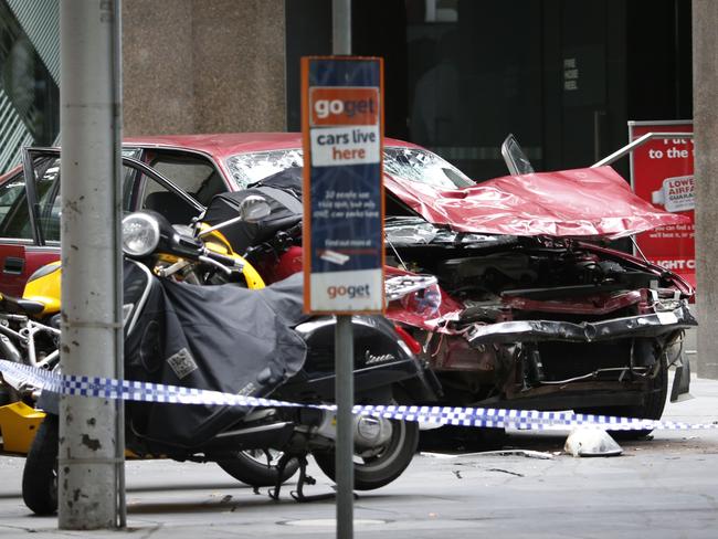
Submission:
M 0 0 L 0 169 L 57 139 L 59 0 Z M 627 120 L 690 119 L 690 0 L 355 0 L 386 59 L 387 135 L 477 180 L 514 133 L 539 170 L 583 167 Z M 299 57 L 331 0 L 123 0 L 126 135 L 299 129 Z M 627 171 L 625 165 L 622 172 Z

